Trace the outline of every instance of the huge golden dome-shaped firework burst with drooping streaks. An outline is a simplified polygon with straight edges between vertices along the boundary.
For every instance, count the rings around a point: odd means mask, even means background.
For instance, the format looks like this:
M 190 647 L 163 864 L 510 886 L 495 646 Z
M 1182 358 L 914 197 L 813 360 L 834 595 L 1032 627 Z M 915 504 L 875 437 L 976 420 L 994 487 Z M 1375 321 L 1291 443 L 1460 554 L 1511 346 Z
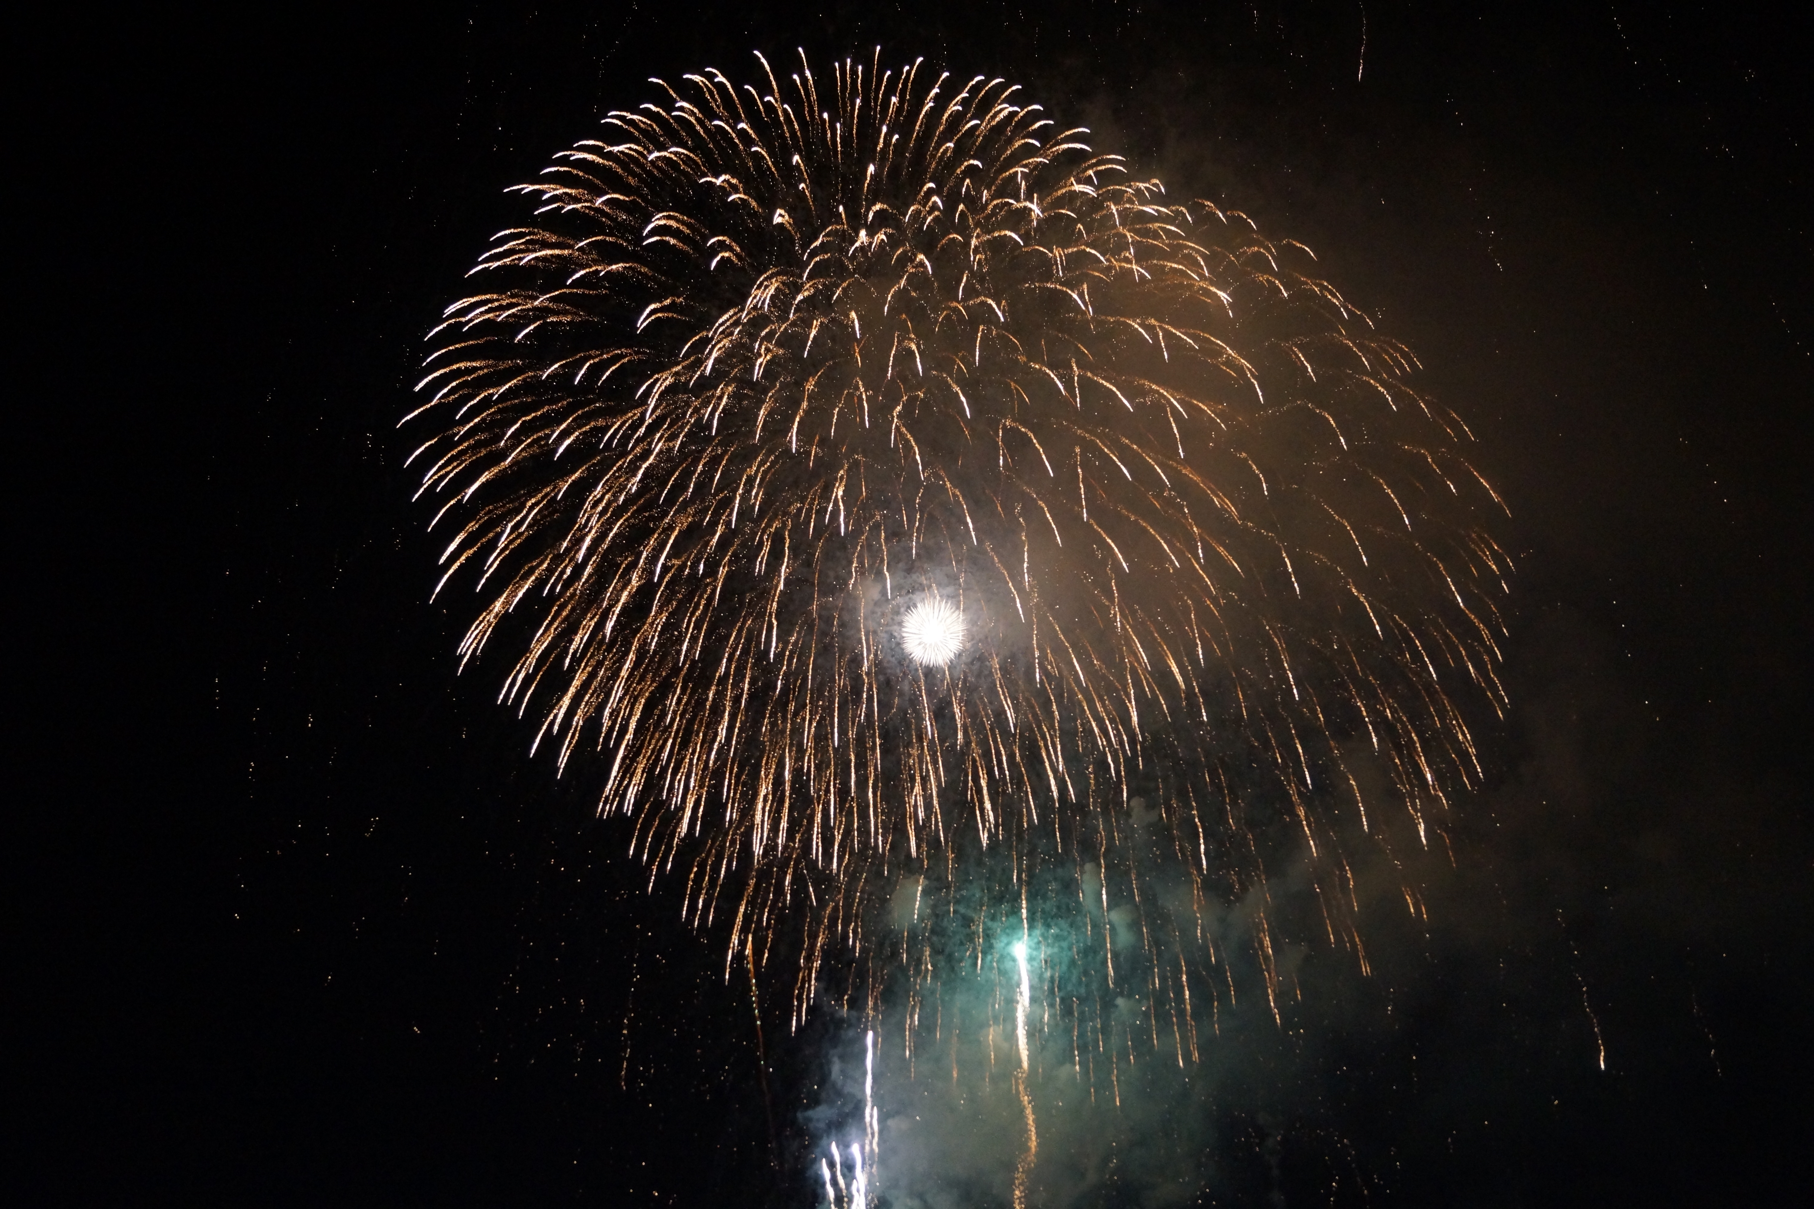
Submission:
M 1344 836 L 1442 827 L 1504 700 L 1500 506 L 1411 353 L 1009 82 L 651 89 L 430 337 L 463 667 L 796 1019 L 898 886 L 1088 899 L 1139 810 L 1199 903 L 1282 821 L 1346 926 Z

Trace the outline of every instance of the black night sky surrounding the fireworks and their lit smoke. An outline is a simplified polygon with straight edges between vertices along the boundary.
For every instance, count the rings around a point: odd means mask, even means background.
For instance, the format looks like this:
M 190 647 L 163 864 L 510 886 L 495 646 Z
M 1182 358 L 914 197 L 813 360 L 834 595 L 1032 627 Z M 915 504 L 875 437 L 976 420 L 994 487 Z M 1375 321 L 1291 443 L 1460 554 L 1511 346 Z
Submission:
M 1400 1011 L 1344 1033 L 1308 1001 L 1293 1095 L 1226 1106 L 1204 1204 L 1801 1200 L 1814 40 L 1778 7 L 71 9 L 22 38 L 15 1204 L 805 1204 L 747 982 L 454 676 L 395 421 L 506 185 L 646 76 L 876 42 L 1306 241 L 1515 515 L 1515 711 L 1431 928 L 1375 962 Z M 813 1068 L 776 1031 L 785 1155 Z

